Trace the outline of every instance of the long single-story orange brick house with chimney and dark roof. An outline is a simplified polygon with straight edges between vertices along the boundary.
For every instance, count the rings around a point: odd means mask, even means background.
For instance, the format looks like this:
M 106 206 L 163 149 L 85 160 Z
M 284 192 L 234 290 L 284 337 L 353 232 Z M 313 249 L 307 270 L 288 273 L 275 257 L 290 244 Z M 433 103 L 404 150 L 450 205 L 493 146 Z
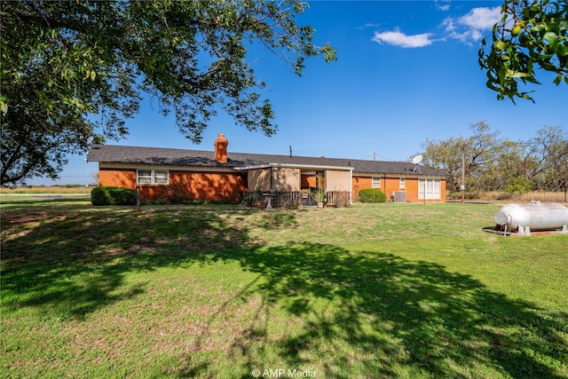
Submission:
M 100 186 L 137 189 L 142 200 L 238 201 L 244 193 L 273 193 L 286 202 L 317 187 L 328 202 L 351 201 L 364 188 L 394 201 L 446 201 L 447 174 L 412 162 L 228 153 L 228 144 L 219 134 L 213 151 L 93 145 L 87 162 L 99 162 Z

